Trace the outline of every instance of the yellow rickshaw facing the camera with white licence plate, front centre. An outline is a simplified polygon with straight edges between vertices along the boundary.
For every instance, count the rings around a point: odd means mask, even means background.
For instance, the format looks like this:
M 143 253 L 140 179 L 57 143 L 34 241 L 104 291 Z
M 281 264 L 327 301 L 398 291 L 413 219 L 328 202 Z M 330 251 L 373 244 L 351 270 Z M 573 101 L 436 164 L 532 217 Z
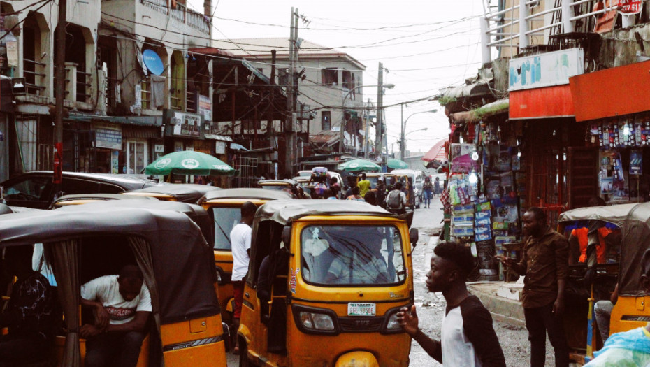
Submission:
M 240 366 L 407 366 L 406 216 L 359 201 L 269 201 L 255 215 Z

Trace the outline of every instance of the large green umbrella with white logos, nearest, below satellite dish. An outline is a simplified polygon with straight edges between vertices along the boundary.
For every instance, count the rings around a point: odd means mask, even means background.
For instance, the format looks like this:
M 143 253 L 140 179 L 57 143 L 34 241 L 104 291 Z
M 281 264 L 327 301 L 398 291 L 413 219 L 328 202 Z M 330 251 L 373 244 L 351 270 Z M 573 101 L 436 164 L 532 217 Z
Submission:
M 184 150 L 166 154 L 145 168 L 147 175 L 234 175 L 235 169 L 210 154 Z

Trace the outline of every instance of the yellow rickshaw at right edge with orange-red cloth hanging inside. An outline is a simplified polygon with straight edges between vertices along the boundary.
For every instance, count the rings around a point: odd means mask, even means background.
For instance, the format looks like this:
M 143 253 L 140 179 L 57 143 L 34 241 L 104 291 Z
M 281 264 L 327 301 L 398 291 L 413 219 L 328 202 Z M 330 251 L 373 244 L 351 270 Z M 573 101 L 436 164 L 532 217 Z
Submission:
M 620 204 L 568 210 L 558 218 L 558 231 L 570 241 L 569 274 L 563 320 L 573 361 L 584 364 L 602 347 L 593 316 L 596 301 L 609 300 L 618 284 L 618 300 L 609 335 L 644 326 L 650 296 L 640 286 L 640 261 L 650 247 L 650 203 Z M 582 231 L 579 248 L 578 236 Z

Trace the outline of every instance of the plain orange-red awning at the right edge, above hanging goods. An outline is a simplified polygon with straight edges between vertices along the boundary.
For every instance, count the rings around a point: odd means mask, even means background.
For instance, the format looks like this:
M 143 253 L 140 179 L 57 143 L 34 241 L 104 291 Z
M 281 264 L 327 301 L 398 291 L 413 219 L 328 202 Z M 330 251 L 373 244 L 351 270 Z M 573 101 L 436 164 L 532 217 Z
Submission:
M 650 110 L 650 61 L 569 78 L 575 120 L 587 121 Z

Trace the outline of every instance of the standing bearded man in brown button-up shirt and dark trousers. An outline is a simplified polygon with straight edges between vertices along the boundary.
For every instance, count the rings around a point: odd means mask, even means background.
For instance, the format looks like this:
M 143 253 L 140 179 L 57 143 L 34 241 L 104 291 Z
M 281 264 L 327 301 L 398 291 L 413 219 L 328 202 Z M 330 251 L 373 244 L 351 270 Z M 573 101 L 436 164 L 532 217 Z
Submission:
M 530 366 L 543 367 L 546 360 L 546 334 L 555 350 L 556 367 L 569 366 L 569 347 L 562 323 L 564 290 L 568 273 L 568 241 L 551 229 L 546 213 L 529 208 L 523 214 L 521 261 L 499 256 L 503 264 L 523 279 L 523 315 L 530 340 Z

